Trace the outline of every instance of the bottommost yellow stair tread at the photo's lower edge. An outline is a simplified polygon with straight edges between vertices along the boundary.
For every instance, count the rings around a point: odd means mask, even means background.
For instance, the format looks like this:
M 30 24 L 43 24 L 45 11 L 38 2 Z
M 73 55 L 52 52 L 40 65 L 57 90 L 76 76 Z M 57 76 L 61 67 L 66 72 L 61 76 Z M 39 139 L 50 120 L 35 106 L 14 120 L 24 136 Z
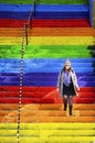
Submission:
M 8 136 L 6 136 L 6 138 L 3 138 L 3 136 L 1 136 L 0 138 L 1 139 L 1 141 L 3 141 L 3 142 L 6 142 L 6 143 L 14 143 L 14 141 L 17 140 L 17 138 L 15 136 L 11 136 L 11 141 L 10 141 L 10 138 Z M 25 138 L 25 136 L 22 136 L 22 138 L 20 138 L 20 142 L 21 143 L 25 143 L 25 142 L 33 142 L 33 143 L 36 143 L 36 141 L 38 140 L 40 140 L 40 138 L 38 138 L 36 139 L 36 136 L 35 138 Z M 73 141 L 73 143 L 74 142 L 92 142 L 92 140 L 94 141 L 95 140 L 95 138 L 94 136 L 83 136 L 82 139 L 81 138 L 77 138 L 77 136 L 65 136 L 65 138 L 41 138 L 41 140 L 39 141 L 39 143 L 45 143 L 45 141 L 48 141 L 49 143 L 56 143 L 56 141 L 57 141 L 57 143 L 66 143 L 66 142 L 72 142 Z

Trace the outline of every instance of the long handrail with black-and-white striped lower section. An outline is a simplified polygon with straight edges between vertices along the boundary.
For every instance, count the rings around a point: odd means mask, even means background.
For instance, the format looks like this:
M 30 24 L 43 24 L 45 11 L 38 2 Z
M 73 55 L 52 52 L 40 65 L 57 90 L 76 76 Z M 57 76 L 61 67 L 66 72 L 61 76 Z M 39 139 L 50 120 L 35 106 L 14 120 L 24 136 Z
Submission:
M 22 105 L 22 92 L 23 92 L 23 67 L 24 67 L 24 52 L 25 44 L 28 44 L 28 29 L 30 26 L 30 20 L 35 13 L 35 1 L 33 0 L 33 8 L 31 8 L 28 22 L 23 24 L 22 31 L 22 46 L 21 46 L 21 59 L 20 59 L 20 90 L 19 90 L 19 105 L 18 105 L 18 133 L 17 133 L 17 143 L 20 142 L 20 114 L 21 114 L 21 105 Z M 25 42 L 27 40 L 27 42 Z

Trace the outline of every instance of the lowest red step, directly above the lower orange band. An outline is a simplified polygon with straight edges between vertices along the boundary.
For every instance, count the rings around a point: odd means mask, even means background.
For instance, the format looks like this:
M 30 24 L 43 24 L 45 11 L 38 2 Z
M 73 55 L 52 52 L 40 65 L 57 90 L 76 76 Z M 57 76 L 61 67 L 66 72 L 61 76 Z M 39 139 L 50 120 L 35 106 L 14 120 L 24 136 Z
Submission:
M 18 103 L 19 98 L 0 98 L 0 103 Z M 95 103 L 95 98 L 74 98 L 74 103 Z M 62 98 L 23 98 L 22 103 L 62 103 Z

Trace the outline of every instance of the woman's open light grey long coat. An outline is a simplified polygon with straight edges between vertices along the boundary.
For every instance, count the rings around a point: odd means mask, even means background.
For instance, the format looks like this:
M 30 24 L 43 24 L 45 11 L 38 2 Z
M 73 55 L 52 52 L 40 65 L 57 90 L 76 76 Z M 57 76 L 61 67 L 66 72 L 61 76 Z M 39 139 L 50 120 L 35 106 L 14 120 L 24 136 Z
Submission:
M 75 94 L 76 95 L 73 95 L 73 96 L 78 96 L 77 95 L 77 91 L 76 91 L 76 88 L 78 88 L 78 85 L 77 85 L 77 78 L 76 78 L 76 74 L 75 72 L 72 69 L 71 70 L 71 77 L 72 77 L 72 81 L 73 81 L 73 86 L 74 86 L 74 90 L 75 90 Z M 64 82 L 64 70 L 62 69 L 59 74 L 59 78 L 57 78 L 57 88 L 59 88 L 59 91 L 60 91 L 60 96 L 63 97 L 62 92 L 63 92 L 63 82 Z

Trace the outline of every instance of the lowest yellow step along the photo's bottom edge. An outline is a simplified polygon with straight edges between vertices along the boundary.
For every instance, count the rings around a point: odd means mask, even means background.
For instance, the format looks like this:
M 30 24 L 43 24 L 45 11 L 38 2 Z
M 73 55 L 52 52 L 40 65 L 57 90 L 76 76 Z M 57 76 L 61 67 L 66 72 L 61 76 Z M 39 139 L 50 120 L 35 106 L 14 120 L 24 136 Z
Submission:
M 1 143 L 17 143 L 17 136 L 0 136 Z M 94 143 L 95 136 L 20 136 L 20 143 Z

